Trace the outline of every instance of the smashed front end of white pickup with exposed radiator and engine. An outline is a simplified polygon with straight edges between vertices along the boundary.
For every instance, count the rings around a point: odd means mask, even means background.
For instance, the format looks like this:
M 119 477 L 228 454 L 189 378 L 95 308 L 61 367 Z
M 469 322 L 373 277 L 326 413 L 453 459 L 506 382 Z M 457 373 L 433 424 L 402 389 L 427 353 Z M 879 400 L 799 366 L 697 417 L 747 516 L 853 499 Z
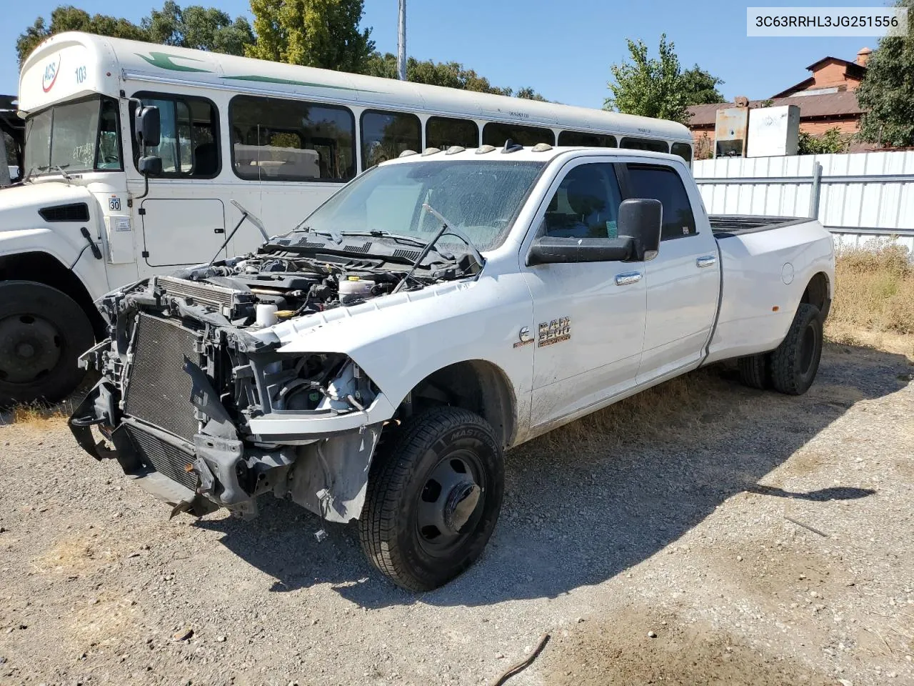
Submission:
M 225 507 L 252 517 L 271 492 L 324 520 L 356 519 L 395 408 L 347 355 L 284 354 L 271 332 L 284 317 L 338 305 L 333 286 L 353 275 L 252 262 L 105 296 L 111 338 L 82 357 L 102 379 L 69 426 L 91 456 L 116 459 L 173 515 Z

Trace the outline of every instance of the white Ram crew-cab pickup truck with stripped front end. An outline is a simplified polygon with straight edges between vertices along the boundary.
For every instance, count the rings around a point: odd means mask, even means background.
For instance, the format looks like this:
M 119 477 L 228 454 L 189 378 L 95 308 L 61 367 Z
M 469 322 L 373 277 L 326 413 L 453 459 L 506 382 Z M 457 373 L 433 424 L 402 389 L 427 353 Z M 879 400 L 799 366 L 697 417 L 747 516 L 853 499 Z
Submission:
M 709 218 L 672 155 L 430 149 L 256 254 L 105 296 L 70 426 L 173 513 L 271 492 L 357 519 L 425 590 L 482 552 L 506 449 L 720 359 L 806 391 L 833 283 L 817 221 Z

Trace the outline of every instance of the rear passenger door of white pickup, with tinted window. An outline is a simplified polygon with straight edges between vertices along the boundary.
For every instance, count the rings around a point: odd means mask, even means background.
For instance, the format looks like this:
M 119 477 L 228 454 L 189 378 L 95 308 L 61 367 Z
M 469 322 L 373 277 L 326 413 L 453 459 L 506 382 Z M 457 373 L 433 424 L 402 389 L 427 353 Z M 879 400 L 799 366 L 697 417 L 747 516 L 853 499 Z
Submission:
M 627 196 L 664 206 L 660 251 L 644 265 L 647 317 L 638 383 L 697 364 L 717 315 L 717 241 L 685 174 L 685 167 L 664 163 L 625 165 Z

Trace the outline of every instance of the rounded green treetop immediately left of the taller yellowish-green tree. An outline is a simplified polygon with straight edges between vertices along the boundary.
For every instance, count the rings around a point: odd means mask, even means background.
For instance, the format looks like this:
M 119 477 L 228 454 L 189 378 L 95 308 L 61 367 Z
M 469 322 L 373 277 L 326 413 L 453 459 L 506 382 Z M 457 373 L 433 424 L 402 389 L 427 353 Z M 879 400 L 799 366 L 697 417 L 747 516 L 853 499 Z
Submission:
M 166 0 L 161 10 L 154 9 L 142 26 L 151 42 L 180 48 L 243 55 L 254 43 L 254 32 L 243 16 L 233 21 L 222 10 L 201 5 L 181 9 L 174 0 Z

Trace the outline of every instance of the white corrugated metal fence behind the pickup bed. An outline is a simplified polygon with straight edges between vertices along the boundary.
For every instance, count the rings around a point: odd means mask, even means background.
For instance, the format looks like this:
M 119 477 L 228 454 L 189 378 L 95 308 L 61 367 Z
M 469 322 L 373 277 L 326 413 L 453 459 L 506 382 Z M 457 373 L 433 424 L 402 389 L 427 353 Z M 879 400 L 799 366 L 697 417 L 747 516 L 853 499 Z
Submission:
M 891 236 L 914 255 L 914 151 L 728 157 L 693 171 L 710 214 L 817 217 L 838 245 Z

